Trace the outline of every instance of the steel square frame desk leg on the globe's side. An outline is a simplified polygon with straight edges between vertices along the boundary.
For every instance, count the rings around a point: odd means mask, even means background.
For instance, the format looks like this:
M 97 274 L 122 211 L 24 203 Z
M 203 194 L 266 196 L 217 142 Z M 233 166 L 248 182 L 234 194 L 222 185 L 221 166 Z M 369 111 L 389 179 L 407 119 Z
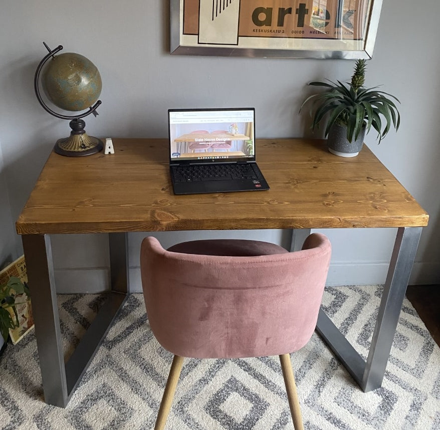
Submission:
M 111 292 L 65 363 L 49 235 L 23 235 L 46 403 L 66 407 L 128 293 L 127 233 L 110 233 Z

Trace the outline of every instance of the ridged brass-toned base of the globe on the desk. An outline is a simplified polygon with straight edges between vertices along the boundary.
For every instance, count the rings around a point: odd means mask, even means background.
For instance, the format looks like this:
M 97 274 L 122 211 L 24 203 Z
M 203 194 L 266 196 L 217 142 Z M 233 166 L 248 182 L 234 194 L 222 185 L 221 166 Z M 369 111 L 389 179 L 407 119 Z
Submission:
M 68 157 L 81 157 L 101 151 L 104 143 L 97 137 L 88 136 L 84 127 L 86 123 L 82 119 L 73 119 L 69 122 L 72 129 L 70 136 L 58 139 L 54 150 L 57 154 Z

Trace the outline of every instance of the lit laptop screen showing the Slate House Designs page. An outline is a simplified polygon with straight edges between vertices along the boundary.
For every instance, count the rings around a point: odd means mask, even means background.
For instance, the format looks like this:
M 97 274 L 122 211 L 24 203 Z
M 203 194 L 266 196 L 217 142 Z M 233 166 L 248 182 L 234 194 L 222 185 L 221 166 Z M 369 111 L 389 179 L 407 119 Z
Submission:
M 169 109 L 170 162 L 254 161 L 255 109 Z

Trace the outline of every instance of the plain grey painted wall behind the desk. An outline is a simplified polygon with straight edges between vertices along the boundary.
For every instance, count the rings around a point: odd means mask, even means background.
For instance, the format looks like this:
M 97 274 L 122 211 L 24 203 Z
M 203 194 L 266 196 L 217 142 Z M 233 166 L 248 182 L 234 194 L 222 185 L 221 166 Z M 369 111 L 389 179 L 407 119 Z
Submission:
M 21 254 L 13 221 L 55 140 L 68 133 L 67 121 L 47 114 L 33 92 L 35 69 L 46 54 L 43 41 L 51 47 L 63 45 L 64 52 L 81 53 L 98 66 L 103 104 L 96 119 L 86 119 L 86 129 L 101 137 L 165 137 L 168 108 L 243 105 L 255 106 L 259 137 L 311 136 L 308 119 L 298 116 L 301 101 L 309 93 L 306 83 L 325 77 L 347 80 L 351 76 L 354 62 L 344 60 L 171 56 L 168 3 L 77 0 L 73 5 L 66 0 L 3 0 L 2 17 L 7 19 L 0 27 L 0 149 L 4 164 L 2 167 L 0 163 L 0 197 L 9 195 L 10 209 L 2 207 L 0 211 L 0 257 Z M 402 124 L 397 134 L 391 132 L 379 146 L 373 133 L 366 142 L 431 216 L 411 283 L 439 283 L 440 175 L 436 164 L 440 158 L 440 54 L 436 38 L 422 30 L 436 28 L 440 3 L 423 0 L 414 5 L 383 1 L 366 85 L 383 84 L 385 91 L 399 97 Z M 5 204 L 5 199 L 2 202 Z M 8 205 L 8 198 L 6 202 Z M 394 230 L 326 233 L 333 243 L 330 284 L 384 281 Z M 277 243 L 287 237 L 281 231 L 240 234 Z M 224 236 L 217 232 L 211 235 Z M 137 259 L 143 236 L 130 235 L 131 280 L 137 290 Z M 199 237 L 200 233 L 158 236 L 169 244 Z M 107 247 L 106 237 L 78 235 L 71 239 L 53 239 L 60 291 L 105 289 L 108 257 L 102 249 Z

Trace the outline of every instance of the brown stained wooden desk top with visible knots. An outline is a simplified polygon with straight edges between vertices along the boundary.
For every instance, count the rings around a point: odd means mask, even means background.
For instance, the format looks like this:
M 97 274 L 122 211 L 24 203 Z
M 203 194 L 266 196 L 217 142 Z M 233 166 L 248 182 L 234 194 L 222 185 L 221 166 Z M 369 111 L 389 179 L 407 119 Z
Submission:
M 52 152 L 17 233 L 423 227 L 428 214 L 364 145 L 357 157 L 324 140 L 257 139 L 271 189 L 174 195 L 167 139 L 113 139 L 115 154 Z

